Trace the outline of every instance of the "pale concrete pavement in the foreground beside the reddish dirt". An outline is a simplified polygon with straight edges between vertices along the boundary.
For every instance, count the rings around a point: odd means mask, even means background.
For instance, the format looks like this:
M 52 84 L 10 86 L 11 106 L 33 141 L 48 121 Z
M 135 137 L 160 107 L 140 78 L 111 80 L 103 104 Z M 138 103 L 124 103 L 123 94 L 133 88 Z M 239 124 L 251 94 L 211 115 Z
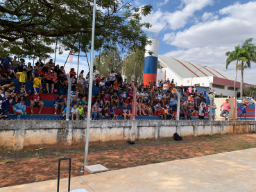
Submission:
M 256 191 L 256 148 L 125 168 L 71 178 L 71 190 Z M 67 179 L 60 181 L 67 191 Z M 56 191 L 57 180 L 1 188 L 0 192 Z

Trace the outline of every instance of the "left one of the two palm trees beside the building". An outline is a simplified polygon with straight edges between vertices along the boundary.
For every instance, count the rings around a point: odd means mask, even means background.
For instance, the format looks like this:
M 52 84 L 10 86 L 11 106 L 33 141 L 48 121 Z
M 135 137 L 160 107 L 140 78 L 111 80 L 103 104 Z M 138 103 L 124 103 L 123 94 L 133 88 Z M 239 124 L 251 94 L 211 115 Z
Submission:
M 246 58 L 244 57 L 244 54 L 246 53 L 245 49 L 242 49 L 240 45 L 234 47 L 234 51 L 226 52 L 225 55 L 228 57 L 226 60 L 226 65 L 225 68 L 228 69 L 228 66 L 230 62 L 236 61 L 236 73 L 234 77 L 234 97 L 236 96 L 236 84 L 237 84 L 237 69 L 239 67 L 239 62 L 240 61 L 245 61 Z

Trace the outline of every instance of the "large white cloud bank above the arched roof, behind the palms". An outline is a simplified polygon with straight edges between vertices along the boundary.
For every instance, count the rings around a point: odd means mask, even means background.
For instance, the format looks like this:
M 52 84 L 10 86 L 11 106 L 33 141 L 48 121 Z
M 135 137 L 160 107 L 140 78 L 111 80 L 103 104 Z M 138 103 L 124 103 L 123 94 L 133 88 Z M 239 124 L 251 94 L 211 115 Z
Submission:
M 204 14 L 205 21 L 178 33 L 164 35 L 164 42 L 177 47 L 176 51 L 165 55 L 225 71 L 225 52 L 234 50 L 234 46 L 250 37 L 256 40 L 255 10 L 256 2 L 253 1 L 235 3 L 219 10 L 219 14 L 224 16 L 222 19 L 215 18 L 211 21 L 210 18 L 214 15 L 208 14 L 207 17 Z M 234 76 L 234 64 L 230 64 L 228 69 L 227 72 Z M 255 84 L 253 78 L 246 75 L 249 71 L 251 70 L 245 70 L 245 82 Z

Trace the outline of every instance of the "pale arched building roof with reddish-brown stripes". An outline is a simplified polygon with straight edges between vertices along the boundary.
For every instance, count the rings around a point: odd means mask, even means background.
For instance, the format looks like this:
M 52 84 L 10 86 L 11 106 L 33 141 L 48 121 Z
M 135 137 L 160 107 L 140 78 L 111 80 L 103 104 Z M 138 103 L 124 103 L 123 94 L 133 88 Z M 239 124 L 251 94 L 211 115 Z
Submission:
M 214 76 L 218 78 L 224 78 L 227 80 L 234 80 L 228 73 L 220 71 L 219 69 L 212 69 L 211 67 L 204 67 L 204 65 L 187 62 L 184 60 L 177 60 L 166 56 L 158 55 L 158 60 L 162 67 L 167 67 L 173 73 L 176 73 L 180 78 L 194 78 Z

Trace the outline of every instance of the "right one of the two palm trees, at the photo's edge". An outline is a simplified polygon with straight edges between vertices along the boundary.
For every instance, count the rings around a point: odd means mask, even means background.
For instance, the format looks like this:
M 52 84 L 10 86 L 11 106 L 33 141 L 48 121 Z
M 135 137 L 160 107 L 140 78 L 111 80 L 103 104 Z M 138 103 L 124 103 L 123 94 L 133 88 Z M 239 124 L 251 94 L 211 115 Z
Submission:
M 241 62 L 241 66 L 239 67 L 241 70 L 241 84 L 240 84 L 240 91 L 241 95 L 243 95 L 243 88 L 244 88 L 244 69 L 251 67 L 251 62 L 256 62 L 256 46 L 252 43 L 253 38 L 246 40 L 242 45 L 241 48 L 246 50 L 244 57 L 246 58 L 245 62 Z

